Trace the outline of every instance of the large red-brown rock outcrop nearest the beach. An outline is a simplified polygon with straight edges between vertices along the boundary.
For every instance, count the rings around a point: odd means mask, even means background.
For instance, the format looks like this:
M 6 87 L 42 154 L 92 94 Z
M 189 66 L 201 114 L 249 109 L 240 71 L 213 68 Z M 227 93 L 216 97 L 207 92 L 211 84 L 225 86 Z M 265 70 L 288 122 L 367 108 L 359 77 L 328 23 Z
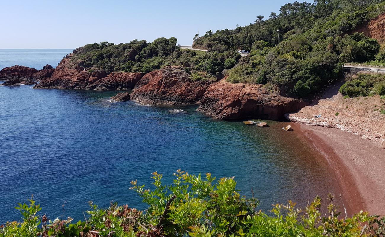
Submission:
M 282 119 L 306 106 L 301 99 L 280 96 L 263 85 L 231 84 L 225 79 L 204 93 L 198 110 L 216 119 Z

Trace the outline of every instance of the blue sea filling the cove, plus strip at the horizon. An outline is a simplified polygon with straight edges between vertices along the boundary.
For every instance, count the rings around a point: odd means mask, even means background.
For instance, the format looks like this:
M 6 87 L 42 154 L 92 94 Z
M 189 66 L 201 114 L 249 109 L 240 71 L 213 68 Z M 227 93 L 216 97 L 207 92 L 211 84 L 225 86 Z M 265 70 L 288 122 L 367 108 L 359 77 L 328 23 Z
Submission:
M 53 66 L 65 54 L 0 50 L 0 61 Z M 235 176 L 241 193 L 253 189 L 263 210 L 339 195 L 325 159 L 299 131 L 280 129 L 287 123 L 259 128 L 211 119 L 196 106 L 110 103 L 116 93 L 0 86 L 0 223 L 20 220 L 13 207 L 31 195 L 51 219 L 84 219 L 89 200 L 146 208 L 129 190 L 131 180 L 152 188 L 153 171 L 170 183 L 177 169 Z

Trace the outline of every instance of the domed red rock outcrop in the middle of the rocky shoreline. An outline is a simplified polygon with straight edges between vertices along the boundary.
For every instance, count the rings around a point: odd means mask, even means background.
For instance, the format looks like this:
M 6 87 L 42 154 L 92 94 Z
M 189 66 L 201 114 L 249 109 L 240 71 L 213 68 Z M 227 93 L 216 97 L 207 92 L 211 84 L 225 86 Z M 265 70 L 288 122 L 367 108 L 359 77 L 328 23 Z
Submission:
M 131 99 L 141 104 L 197 104 L 213 80 L 193 81 L 184 67 L 152 71 L 136 84 Z

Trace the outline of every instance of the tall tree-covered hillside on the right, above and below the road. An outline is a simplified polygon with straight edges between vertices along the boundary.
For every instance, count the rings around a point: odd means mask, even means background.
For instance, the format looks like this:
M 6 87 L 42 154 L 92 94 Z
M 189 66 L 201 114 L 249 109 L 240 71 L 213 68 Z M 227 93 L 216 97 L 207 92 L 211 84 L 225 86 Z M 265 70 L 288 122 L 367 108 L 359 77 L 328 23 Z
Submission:
M 344 62 L 384 60 L 375 39 L 353 33 L 383 13 L 384 5 L 378 0 L 287 3 L 266 21 L 258 16 L 255 24 L 208 31 L 195 45 L 216 52 L 251 51 L 226 72 L 231 82 L 270 83 L 281 92 L 306 96 L 340 77 Z

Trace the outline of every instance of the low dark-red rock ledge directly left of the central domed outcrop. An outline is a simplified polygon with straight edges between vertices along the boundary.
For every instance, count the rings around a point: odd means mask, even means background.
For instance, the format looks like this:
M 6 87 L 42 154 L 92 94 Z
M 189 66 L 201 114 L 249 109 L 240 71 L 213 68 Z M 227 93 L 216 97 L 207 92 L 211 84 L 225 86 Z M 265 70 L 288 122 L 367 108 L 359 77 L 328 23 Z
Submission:
M 142 76 L 141 72 L 111 72 L 95 83 L 95 90 L 131 90 Z

